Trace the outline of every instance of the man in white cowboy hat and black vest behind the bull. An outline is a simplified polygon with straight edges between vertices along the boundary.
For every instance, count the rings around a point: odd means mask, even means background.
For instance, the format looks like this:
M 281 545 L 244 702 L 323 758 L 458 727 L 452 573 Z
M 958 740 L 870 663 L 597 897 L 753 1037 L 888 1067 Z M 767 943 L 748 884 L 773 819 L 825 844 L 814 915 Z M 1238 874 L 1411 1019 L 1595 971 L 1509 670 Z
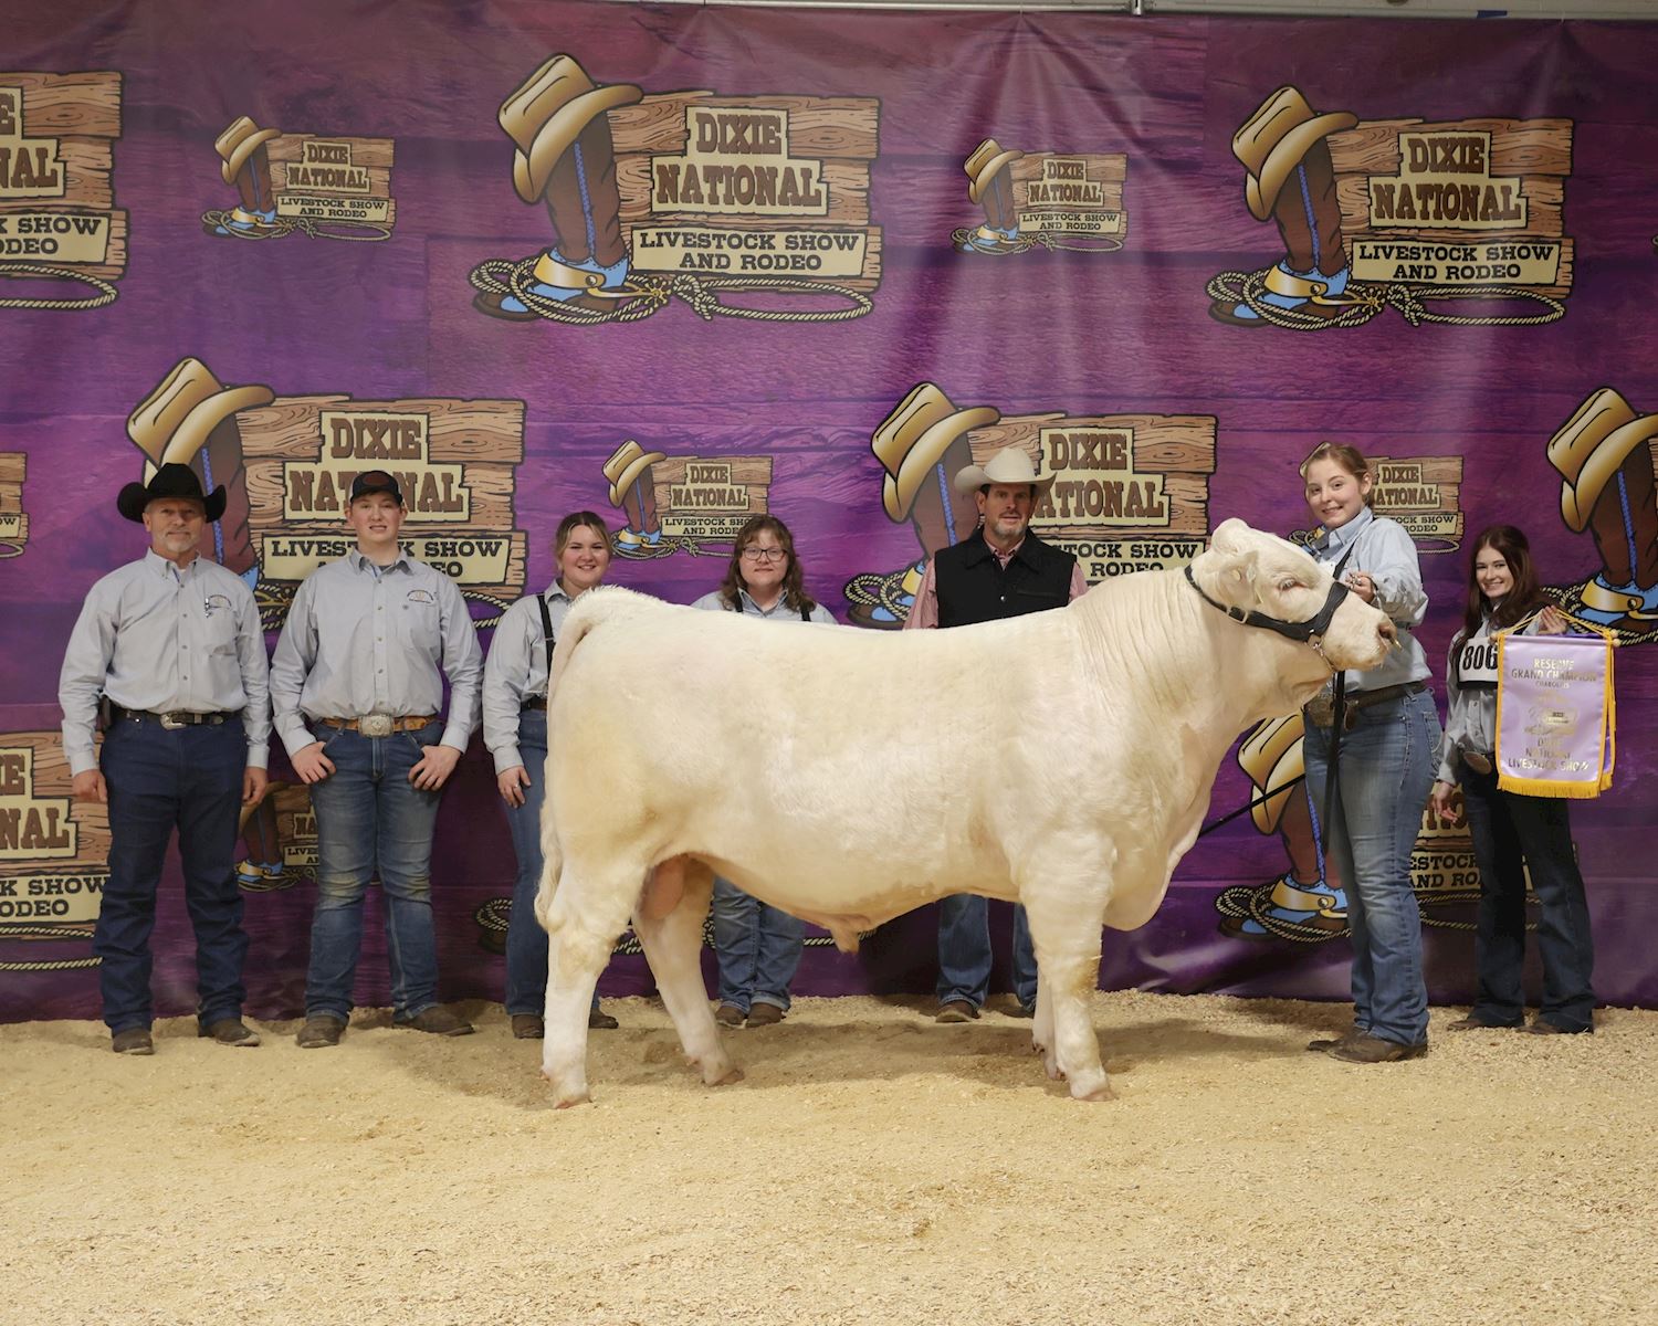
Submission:
M 1076 559 L 1030 532 L 1036 502 L 1053 486 L 1021 448 L 1003 448 L 955 476 L 955 491 L 978 506 L 978 535 L 940 549 L 927 564 L 905 630 L 970 627 L 1063 608 L 1088 590 Z M 972 893 L 938 902 L 940 1023 L 978 1016 L 990 991 L 990 903 Z M 1036 1011 L 1036 956 L 1025 908 L 1013 908 L 1013 994 L 1018 1016 Z

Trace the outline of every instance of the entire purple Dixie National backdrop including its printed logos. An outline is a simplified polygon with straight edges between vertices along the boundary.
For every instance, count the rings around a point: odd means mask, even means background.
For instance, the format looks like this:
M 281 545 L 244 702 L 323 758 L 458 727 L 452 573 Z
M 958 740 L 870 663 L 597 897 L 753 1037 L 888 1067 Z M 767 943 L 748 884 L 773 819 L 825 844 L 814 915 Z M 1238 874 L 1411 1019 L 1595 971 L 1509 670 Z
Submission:
M 769 512 L 846 630 L 894 630 L 975 537 L 952 479 L 996 448 L 1056 476 L 1035 527 L 1109 583 L 1230 515 L 1318 537 L 1320 441 L 1370 454 L 1416 542 L 1441 698 L 1496 522 L 1618 643 L 1617 782 L 1572 824 L 1597 990 L 1658 1006 L 1658 25 L 0 10 L 0 1019 L 98 1011 L 108 824 L 70 799 L 56 676 L 144 547 L 114 494 L 159 464 L 225 486 L 202 554 L 272 641 L 350 547 L 351 476 L 390 469 L 487 648 L 575 509 L 612 527 L 610 582 L 681 603 Z M 1300 776 L 1298 714 L 1240 734 L 1230 819 L 1106 935 L 1106 986 L 1346 996 Z M 237 850 L 249 1009 L 293 1016 L 317 827 L 280 751 L 272 781 Z M 512 875 L 474 739 L 433 859 L 444 998 L 501 998 Z M 1466 827 L 1424 807 L 1411 877 L 1431 993 L 1466 1001 Z M 796 990 L 930 990 L 933 933 L 932 908 L 857 956 L 812 932 Z M 602 988 L 648 990 L 620 950 Z M 378 955 L 360 971 L 386 1003 Z M 176 865 L 156 988 L 192 1006 Z

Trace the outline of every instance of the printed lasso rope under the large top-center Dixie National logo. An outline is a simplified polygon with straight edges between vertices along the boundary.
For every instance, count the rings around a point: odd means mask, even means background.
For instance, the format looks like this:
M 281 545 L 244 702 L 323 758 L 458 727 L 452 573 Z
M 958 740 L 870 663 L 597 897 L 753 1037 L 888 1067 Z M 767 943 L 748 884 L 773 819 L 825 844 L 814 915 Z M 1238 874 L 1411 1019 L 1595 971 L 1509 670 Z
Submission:
M 615 322 L 642 322 L 652 313 L 660 313 L 675 298 L 685 300 L 703 322 L 718 318 L 748 318 L 751 322 L 847 322 L 861 318 L 875 305 L 862 290 L 831 282 L 807 280 L 802 277 L 693 277 L 676 275 L 640 275 L 628 277 L 620 290 L 602 292 L 602 297 L 615 308 L 584 308 L 572 302 L 562 302 L 537 295 L 536 264 L 541 255 L 519 259 L 487 259 L 473 269 L 468 280 L 473 288 L 486 295 L 511 295 L 532 313 L 547 322 L 562 322 L 575 327 L 597 327 Z M 789 312 L 786 308 L 746 308 L 743 305 L 725 303 L 723 293 L 738 292 L 776 292 L 788 295 L 831 295 L 851 302 L 849 308 L 812 308 Z M 599 293 L 599 292 L 595 292 Z

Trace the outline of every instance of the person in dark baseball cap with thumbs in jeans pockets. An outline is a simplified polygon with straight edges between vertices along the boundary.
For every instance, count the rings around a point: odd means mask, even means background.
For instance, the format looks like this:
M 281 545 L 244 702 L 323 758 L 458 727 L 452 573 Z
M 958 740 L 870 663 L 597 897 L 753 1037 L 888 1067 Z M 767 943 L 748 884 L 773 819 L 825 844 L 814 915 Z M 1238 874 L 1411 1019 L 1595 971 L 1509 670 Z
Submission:
M 478 728 L 484 656 L 454 582 L 398 544 L 405 515 L 395 476 L 370 469 L 351 481 L 356 547 L 300 585 L 270 663 L 277 734 L 317 814 L 302 1049 L 337 1046 L 350 1021 L 373 877 L 393 1019 L 438 1036 L 473 1031 L 438 1003 L 431 835 L 443 784 Z M 448 721 L 438 718 L 444 678 Z

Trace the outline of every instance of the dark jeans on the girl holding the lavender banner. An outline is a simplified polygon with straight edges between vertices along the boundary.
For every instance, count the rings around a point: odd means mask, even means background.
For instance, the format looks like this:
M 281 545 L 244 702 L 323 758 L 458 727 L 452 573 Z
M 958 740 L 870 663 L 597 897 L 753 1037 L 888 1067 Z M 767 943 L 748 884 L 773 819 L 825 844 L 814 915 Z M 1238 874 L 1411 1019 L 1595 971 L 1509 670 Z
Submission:
M 1563 1031 L 1593 1024 L 1595 940 L 1583 877 L 1572 855 L 1568 802 L 1497 789 L 1496 774 L 1462 774 L 1467 830 L 1479 862 L 1479 923 L 1474 965 L 1479 990 L 1471 1016 L 1496 1026 L 1525 1021 L 1520 966 L 1525 961 L 1525 874 L 1537 895 L 1537 948 L 1544 960 L 1542 1019 Z M 1524 862 L 1524 867 L 1522 867 Z

